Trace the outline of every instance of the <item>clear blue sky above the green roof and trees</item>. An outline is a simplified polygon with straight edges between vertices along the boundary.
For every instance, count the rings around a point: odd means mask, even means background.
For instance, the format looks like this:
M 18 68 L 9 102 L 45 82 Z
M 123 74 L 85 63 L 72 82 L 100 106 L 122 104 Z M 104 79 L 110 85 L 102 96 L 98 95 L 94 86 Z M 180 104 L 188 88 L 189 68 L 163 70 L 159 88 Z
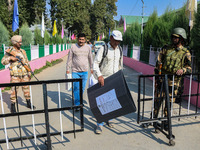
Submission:
M 172 9 L 181 8 L 187 0 L 143 0 L 144 1 L 144 15 L 150 16 L 154 8 L 157 9 L 158 16 L 162 15 L 167 7 Z M 199 0 L 198 0 L 199 1 Z M 141 16 L 142 1 L 141 0 L 118 0 L 117 16 L 115 20 L 119 20 L 121 15 Z

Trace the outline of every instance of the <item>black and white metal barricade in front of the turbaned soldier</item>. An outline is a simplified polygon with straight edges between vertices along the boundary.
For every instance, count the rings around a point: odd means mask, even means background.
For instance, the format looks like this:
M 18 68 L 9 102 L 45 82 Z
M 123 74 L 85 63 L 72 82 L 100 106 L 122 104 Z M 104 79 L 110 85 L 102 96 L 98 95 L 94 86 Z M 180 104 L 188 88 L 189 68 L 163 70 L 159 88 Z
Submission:
M 47 149 L 51 150 L 52 149 L 52 143 L 51 143 L 51 136 L 54 135 L 61 135 L 62 140 L 63 140 L 63 134 L 67 134 L 67 133 L 73 133 L 74 134 L 74 138 L 76 138 L 76 132 L 81 132 L 84 131 L 84 118 L 83 118 L 83 97 L 82 97 L 82 90 L 79 90 L 79 94 L 80 94 L 80 105 L 75 106 L 74 105 L 74 96 L 73 96 L 73 84 L 72 84 L 72 97 L 71 97 L 71 106 L 65 106 L 62 107 L 61 104 L 61 96 L 60 96 L 60 84 L 61 83 L 67 83 L 67 82 L 79 82 L 79 89 L 82 89 L 82 79 L 62 79 L 62 80 L 47 80 L 47 81 L 33 81 L 33 82 L 20 82 L 20 83 L 7 83 L 7 84 L 0 84 L 0 98 L 1 98 L 1 109 L 2 109 L 2 114 L 0 114 L 0 118 L 3 118 L 3 126 L 4 126 L 4 133 L 5 133 L 5 139 L 0 139 L 0 143 L 7 143 L 7 149 L 9 149 L 9 142 L 14 142 L 14 141 L 21 141 L 21 145 L 23 146 L 23 140 L 27 140 L 27 139 L 34 139 L 35 140 L 35 144 L 36 144 L 36 139 L 40 138 L 40 137 L 47 137 L 47 140 L 45 142 L 45 144 L 47 145 Z M 54 84 L 58 84 L 58 86 L 56 87 L 58 89 L 58 108 L 49 108 L 48 106 L 48 90 L 47 90 L 47 85 L 54 85 Z M 19 104 L 18 104 L 18 98 L 19 96 L 17 95 L 16 92 L 16 88 L 18 86 L 25 86 L 25 85 L 29 85 L 30 86 L 30 100 L 31 100 L 31 104 L 33 104 L 33 95 L 32 95 L 32 86 L 42 86 L 42 90 L 40 90 L 43 93 L 43 104 L 44 104 L 44 109 L 36 109 L 33 110 L 33 105 L 31 105 L 31 111 L 20 111 L 19 110 Z M 16 93 L 16 104 L 17 104 L 17 112 L 16 113 L 5 113 L 4 111 L 4 106 L 3 106 L 3 94 L 1 91 L 2 87 L 15 87 L 15 93 Z M 79 108 L 80 111 L 80 129 L 76 129 L 75 128 L 75 109 Z M 69 130 L 69 131 L 63 131 L 63 123 L 62 123 L 62 115 L 61 115 L 61 111 L 66 111 L 66 110 L 72 110 L 72 115 L 73 115 L 73 130 Z M 60 119 L 60 132 L 50 132 L 50 128 L 51 128 L 51 124 L 49 122 L 49 114 L 51 112 L 59 112 L 59 119 Z M 45 128 L 46 128 L 46 133 L 44 134 L 36 134 L 36 127 L 35 127 L 35 122 L 34 122 L 34 115 L 35 114 L 44 114 L 45 117 Z M 21 127 L 21 122 L 20 122 L 20 117 L 21 116 L 25 116 L 25 115 L 32 115 L 32 125 L 33 125 L 33 133 L 31 133 L 31 135 L 27 135 L 27 136 L 22 136 L 22 127 Z M 18 117 L 18 128 L 19 128 L 19 137 L 15 137 L 15 138 L 10 138 L 10 136 L 8 136 L 7 133 L 7 122 L 6 122 L 6 118 L 8 117 Z M 8 138 L 9 137 L 9 138 Z

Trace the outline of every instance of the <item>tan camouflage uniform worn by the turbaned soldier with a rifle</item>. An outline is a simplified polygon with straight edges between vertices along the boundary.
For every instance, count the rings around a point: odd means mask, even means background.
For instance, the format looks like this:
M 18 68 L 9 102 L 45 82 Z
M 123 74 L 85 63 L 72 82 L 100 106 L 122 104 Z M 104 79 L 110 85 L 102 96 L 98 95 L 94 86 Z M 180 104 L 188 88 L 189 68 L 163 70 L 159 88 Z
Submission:
M 10 52 L 14 52 L 16 56 L 19 56 L 22 59 L 23 64 L 28 65 L 28 58 L 26 55 L 25 50 L 20 49 L 16 50 L 15 48 L 7 49 L 4 57 L 1 60 L 1 63 L 3 65 L 8 65 L 10 70 L 10 76 L 11 76 L 11 83 L 18 83 L 18 82 L 29 82 L 31 73 L 27 72 L 27 70 L 24 68 L 24 66 L 19 62 L 15 61 L 13 62 L 10 60 Z M 30 67 L 30 66 L 29 66 Z M 18 90 L 18 87 L 16 87 Z M 24 97 L 26 100 L 30 100 L 30 90 L 29 86 L 22 86 L 22 90 L 24 92 Z M 16 103 L 16 96 L 15 96 L 15 87 L 11 88 L 11 103 Z

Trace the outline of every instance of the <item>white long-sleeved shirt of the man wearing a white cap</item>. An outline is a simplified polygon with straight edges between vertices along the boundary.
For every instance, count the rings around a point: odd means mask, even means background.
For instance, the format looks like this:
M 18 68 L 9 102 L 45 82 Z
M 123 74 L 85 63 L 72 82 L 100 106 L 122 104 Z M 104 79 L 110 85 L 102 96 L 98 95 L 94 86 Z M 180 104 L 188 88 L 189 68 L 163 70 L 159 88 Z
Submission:
M 103 60 L 103 63 L 101 65 L 101 68 L 99 68 L 99 64 L 102 60 L 104 52 L 104 47 L 102 46 L 94 59 L 93 63 L 93 71 L 95 77 L 103 76 L 104 78 L 107 78 L 108 76 L 116 73 L 123 67 L 123 57 L 120 59 L 120 49 L 117 46 L 116 49 L 113 49 L 110 44 L 108 44 L 108 53 L 106 57 Z M 120 61 L 121 60 L 121 61 Z

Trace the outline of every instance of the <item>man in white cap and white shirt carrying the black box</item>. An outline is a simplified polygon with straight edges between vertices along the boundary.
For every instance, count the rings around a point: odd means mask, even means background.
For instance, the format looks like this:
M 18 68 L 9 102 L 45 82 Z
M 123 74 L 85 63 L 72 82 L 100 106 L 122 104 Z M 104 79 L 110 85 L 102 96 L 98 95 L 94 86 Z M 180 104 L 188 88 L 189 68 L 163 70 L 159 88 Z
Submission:
M 104 86 L 104 79 L 110 75 L 116 73 L 123 68 L 123 56 L 120 52 L 119 44 L 122 41 L 122 33 L 118 30 L 114 30 L 110 36 L 110 42 L 108 43 L 108 52 L 103 58 L 104 47 L 102 46 L 94 59 L 93 72 L 94 76 L 98 79 L 101 86 Z M 103 62 L 102 61 L 103 58 Z M 100 66 L 101 64 L 101 66 Z M 95 130 L 96 134 L 102 132 L 104 122 L 97 123 L 97 128 Z M 106 122 L 109 127 L 113 127 L 110 122 Z

